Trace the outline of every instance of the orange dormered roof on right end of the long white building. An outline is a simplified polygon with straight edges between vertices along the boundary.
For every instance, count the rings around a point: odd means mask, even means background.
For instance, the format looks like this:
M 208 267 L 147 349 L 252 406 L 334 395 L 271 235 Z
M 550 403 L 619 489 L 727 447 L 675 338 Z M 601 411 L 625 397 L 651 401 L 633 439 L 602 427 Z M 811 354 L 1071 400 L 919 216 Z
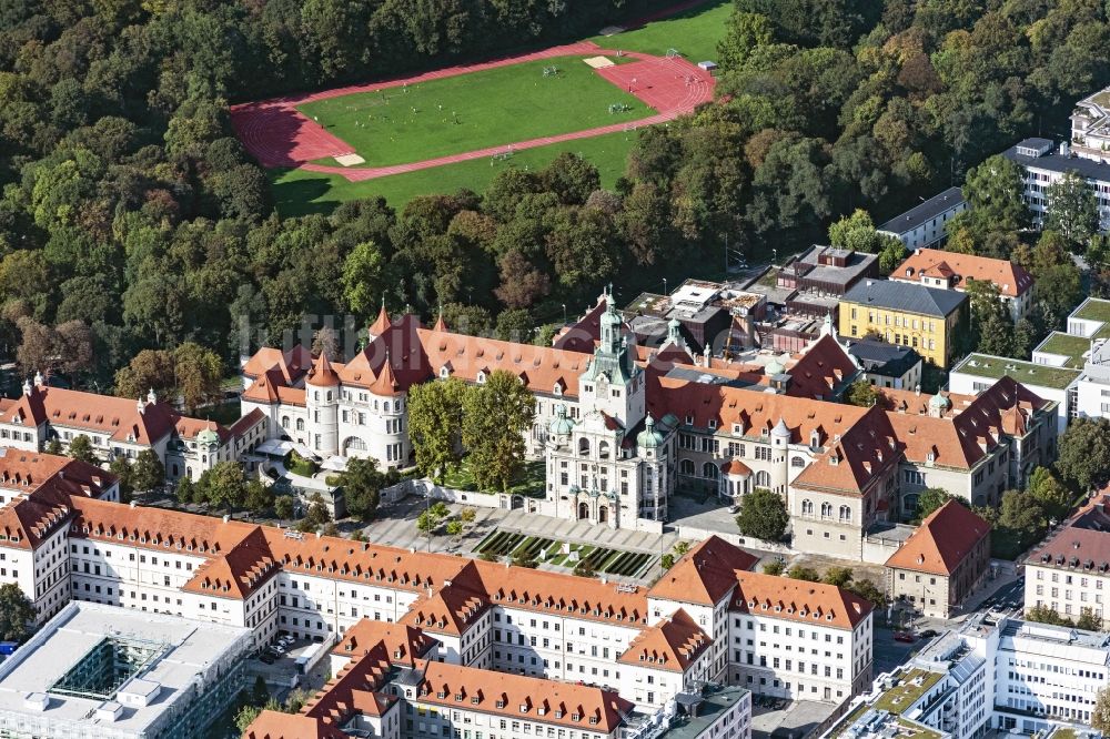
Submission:
M 867 618 L 870 601 L 824 583 L 795 580 L 763 573 L 736 573 L 733 610 L 795 621 L 851 629 Z

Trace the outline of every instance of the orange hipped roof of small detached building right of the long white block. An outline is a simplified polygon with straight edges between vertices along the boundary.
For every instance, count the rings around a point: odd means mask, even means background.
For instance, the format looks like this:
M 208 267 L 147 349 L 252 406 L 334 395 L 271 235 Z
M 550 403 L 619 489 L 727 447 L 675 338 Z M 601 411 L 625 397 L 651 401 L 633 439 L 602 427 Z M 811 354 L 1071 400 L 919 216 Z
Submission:
M 957 500 L 949 500 L 921 522 L 914 535 L 887 559 L 887 567 L 951 575 L 976 546 L 990 536 L 990 525 Z

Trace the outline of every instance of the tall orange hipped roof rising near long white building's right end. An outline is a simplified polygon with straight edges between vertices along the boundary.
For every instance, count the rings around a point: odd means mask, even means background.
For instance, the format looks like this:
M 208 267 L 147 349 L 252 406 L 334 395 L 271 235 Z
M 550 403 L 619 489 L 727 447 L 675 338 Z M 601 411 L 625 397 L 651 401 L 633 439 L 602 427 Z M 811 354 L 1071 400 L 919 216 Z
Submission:
M 749 569 L 758 557 L 710 536 L 683 555 L 648 590 L 649 598 L 663 598 L 714 606 L 736 586 L 736 570 Z

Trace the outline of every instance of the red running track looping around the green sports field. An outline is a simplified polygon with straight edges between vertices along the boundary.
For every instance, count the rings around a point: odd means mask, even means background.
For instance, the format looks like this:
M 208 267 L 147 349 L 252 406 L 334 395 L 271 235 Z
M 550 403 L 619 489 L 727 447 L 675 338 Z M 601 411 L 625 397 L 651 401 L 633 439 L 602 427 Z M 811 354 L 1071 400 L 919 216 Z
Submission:
M 506 142 L 497 146 L 440 156 L 420 162 L 394 164 L 391 166 L 331 166 L 313 164 L 312 160 L 329 156 L 341 156 L 353 153 L 351 146 L 316 122 L 309 120 L 296 105 L 314 100 L 337 98 L 356 92 L 374 92 L 405 84 L 418 84 L 427 80 L 436 80 L 458 74 L 467 74 L 495 67 L 518 64 L 521 62 L 554 57 L 593 57 L 615 55 L 616 51 L 602 49 L 592 41 L 552 47 L 543 51 L 515 57 L 505 57 L 477 64 L 463 64 L 440 69 L 407 78 L 397 78 L 373 84 L 352 85 L 325 90 L 307 95 L 275 98 L 260 102 L 234 105 L 231 109 L 231 122 L 243 145 L 263 166 L 297 166 L 307 172 L 339 174 L 351 182 L 361 182 L 376 178 L 414 172 L 455 162 L 488 158 L 511 150 L 546 146 L 564 141 L 589 139 L 606 133 L 628 131 L 642 125 L 652 125 L 677 118 L 694 110 L 695 107 L 713 100 L 714 79 L 682 58 L 654 57 L 636 52 L 626 52 L 627 57 L 636 59 L 633 62 L 617 64 L 596 70 L 598 74 L 632 92 L 657 112 L 654 115 L 636 121 L 625 121 L 612 125 L 602 125 L 583 131 L 573 131 L 552 136 L 542 136 L 527 141 Z

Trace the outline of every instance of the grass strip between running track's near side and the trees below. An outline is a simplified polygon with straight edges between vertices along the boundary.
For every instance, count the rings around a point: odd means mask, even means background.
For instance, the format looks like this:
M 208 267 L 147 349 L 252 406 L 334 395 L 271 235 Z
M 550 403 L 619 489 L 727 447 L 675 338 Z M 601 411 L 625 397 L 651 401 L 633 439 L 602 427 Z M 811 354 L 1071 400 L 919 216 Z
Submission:
M 390 205 L 401 210 L 417 195 L 452 193 L 463 188 L 481 194 L 502 170 L 539 170 L 565 151 L 589 160 L 602 176 L 602 186 L 613 188 L 617 178 L 625 172 L 625 162 L 635 142 L 635 132 L 607 133 L 592 139 L 525 149 L 505 161 L 483 156 L 364 182 L 350 182 L 337 174 L 303 170 L 268 170 L 268 174 L 278 212 L 285 217 L 330 213 L 336 205 L 349 200 L 379 196 L 385 198 Z

